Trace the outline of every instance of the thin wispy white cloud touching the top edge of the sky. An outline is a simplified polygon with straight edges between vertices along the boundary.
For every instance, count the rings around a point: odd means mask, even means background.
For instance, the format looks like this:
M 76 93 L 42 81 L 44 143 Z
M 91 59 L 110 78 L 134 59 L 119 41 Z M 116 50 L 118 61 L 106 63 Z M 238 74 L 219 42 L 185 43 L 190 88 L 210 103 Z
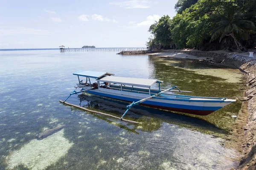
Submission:
M 122 8 L 150 8 L 151 0 L 127 0 L 123 2 L 111 2 L 111 5 L 117 5 Z

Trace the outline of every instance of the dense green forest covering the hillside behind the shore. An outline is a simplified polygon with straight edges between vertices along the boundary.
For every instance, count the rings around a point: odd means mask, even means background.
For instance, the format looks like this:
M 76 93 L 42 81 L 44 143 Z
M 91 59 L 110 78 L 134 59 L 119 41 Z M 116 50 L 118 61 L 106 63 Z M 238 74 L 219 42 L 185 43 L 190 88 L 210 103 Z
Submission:
M 152 24 L 152 50 L 247 51 L 256 47 L 256 0 L 178 0 L 176 16 Z

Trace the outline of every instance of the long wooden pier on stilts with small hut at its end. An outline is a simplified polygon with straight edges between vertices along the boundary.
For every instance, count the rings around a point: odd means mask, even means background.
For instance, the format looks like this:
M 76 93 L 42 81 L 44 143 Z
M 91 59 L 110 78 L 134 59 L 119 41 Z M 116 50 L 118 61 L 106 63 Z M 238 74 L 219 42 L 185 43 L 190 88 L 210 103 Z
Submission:
M 64 45 L 63 45 L 64 46 Z M 64 48 L 60 46 L 60 52 L 89 52 L 89 51 L 148 51 L 146 47 L 131 47 L 131 48 Z

